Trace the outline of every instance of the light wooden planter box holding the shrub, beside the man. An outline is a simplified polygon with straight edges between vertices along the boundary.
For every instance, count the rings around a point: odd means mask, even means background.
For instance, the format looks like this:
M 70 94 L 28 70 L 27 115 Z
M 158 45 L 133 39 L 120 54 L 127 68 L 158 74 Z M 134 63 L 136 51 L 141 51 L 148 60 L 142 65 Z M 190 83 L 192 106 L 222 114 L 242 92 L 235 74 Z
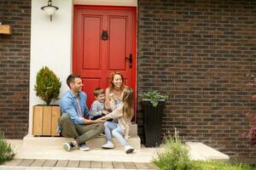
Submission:
M 56 105 L 33 106 L 32 134 L 35 136 L 59 136 L 56 132 L 61 108 Z

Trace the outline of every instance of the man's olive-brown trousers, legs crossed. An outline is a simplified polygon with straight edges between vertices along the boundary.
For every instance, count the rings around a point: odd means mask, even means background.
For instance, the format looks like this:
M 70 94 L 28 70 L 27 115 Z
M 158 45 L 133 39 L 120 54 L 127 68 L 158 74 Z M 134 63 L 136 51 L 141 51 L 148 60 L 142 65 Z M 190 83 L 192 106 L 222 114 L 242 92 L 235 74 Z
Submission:
M 62 114 L 58 120 L 61 127 L 61 134 L 66 138 L 73 138 L 78 144 L 82 144 L 92 139 L 104 131 L 103 123 L 75 124 L 67 113 Z

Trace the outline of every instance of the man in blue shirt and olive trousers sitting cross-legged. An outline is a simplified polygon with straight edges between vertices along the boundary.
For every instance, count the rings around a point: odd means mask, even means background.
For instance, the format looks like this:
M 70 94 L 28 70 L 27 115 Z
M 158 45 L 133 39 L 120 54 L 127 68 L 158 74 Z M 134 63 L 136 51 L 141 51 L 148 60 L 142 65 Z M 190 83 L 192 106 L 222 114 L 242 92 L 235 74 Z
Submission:
M 89 110 L 86 105 L 87 96 L 82 92 L 83 82 L 79 75 L 69 75 L 67 77 L 67 86 L 70 90 L 61 98 L 61 117 L 59 118 L 59 127 L 62 136 L 73 138 L 80 150 L 90 150 L 85 143 L 94 138 L 104 130 L 102 121 L 93 121 L 85 118 L 89 116 Z M 63 144 L 64 150 L 75 148 L 73 142 Z

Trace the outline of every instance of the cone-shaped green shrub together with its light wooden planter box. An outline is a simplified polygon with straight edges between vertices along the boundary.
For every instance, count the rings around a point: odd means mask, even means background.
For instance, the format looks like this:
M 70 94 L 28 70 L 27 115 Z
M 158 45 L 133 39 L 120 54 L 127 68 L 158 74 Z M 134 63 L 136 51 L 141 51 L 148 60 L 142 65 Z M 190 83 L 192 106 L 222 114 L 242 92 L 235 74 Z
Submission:
M 35 91 L 37 96 L 44 100 L 45 105 L 33 107 L 32 134 L 38 136 L 57 136 L 57 119 L 61 116 L 58 105 L 50 105 L 52 100 L 59 99 L 61 82 L 55 73 L 47 66 L 37 73 Z

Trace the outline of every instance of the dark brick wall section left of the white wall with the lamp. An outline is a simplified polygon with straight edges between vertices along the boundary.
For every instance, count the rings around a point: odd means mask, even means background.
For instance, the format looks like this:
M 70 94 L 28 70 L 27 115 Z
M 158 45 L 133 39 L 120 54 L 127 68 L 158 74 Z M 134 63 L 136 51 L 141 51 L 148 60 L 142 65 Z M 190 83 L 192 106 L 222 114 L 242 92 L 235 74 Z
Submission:
M 0 21 L 12 35 L 0 34 L 0 131 L 8 139 L 28 132 L 31 0 L 1 0 Z

